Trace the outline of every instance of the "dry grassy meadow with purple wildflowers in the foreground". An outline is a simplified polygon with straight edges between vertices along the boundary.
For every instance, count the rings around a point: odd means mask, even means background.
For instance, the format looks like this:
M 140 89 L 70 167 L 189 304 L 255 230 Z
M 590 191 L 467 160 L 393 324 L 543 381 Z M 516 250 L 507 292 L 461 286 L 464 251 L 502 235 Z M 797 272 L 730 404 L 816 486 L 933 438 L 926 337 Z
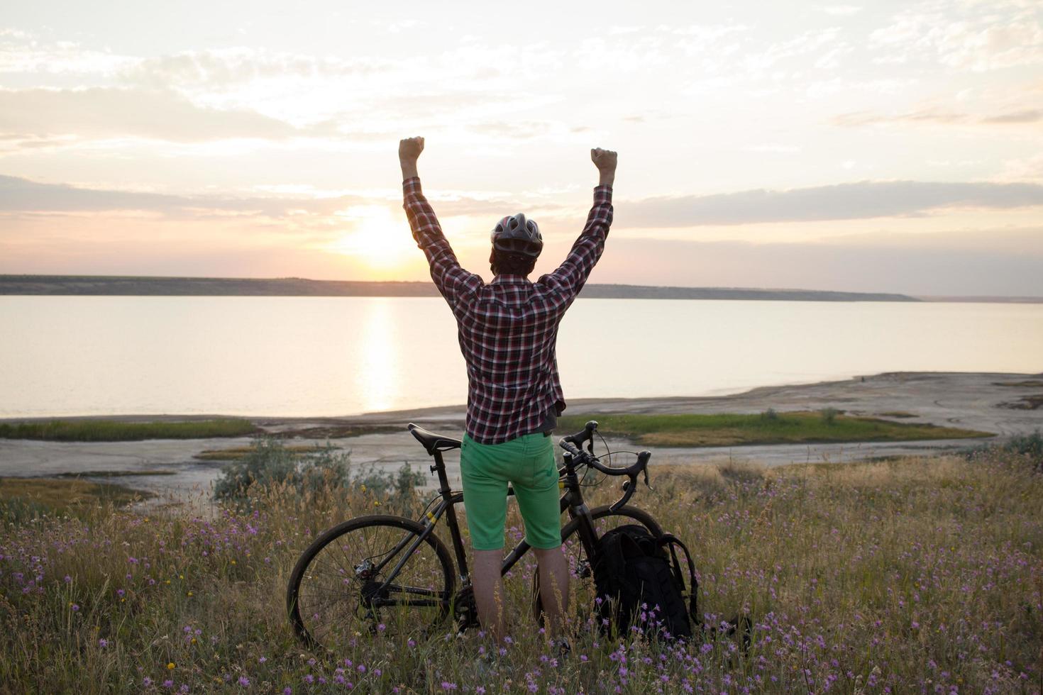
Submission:
M 1035 451 L 1035 453 L 1033 452 Z M 760 468 L 652 468 L 633 503 L 696 555 L 707 625 L 736 614 L 752 644 L 604 639 L 574 623 L 551 650 L 507 580 L 509 642 L 480 632 L 298 645 L 289 572 L 322 529 L 415 508 L 371 487 L 250 489 L 213 515 L 106 500 L 0 536 L 0 688 L 11 693 L 1039 693 L 1039 452 Z M 595 503 L 615 486 L 588 490 Z M 2 508 L 2 507 L 0 507 Z M 520 537 L 513 510 L 508 543 Z M 531 560 L 531 559 L 527 559 Z

